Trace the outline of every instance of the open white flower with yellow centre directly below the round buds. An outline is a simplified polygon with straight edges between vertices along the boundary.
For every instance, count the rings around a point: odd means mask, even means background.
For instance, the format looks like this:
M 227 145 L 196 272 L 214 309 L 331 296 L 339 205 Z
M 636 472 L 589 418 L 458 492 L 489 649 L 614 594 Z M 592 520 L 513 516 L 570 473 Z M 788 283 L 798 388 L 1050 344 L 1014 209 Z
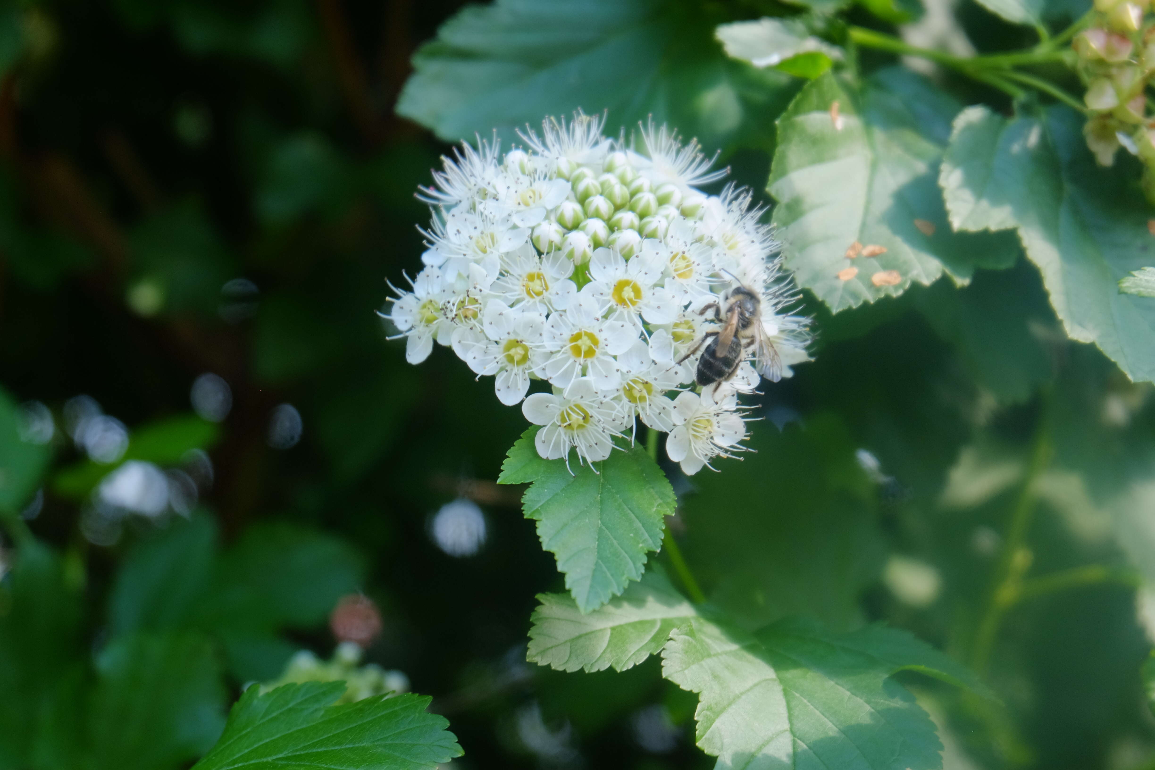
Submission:
M 589 260 L 594 278 L 581 290 L 614 321 L 628 321 L 641 328 L 641 319 L 650 323 L 670 323 L 681 307 L 665 289 L 654 284 L 662 277 L 663 263 L 656 253 L 639 254 L 628 262 L 612 248 L 598 248 Z M 640 316 L 640 317 L 639 317 Z

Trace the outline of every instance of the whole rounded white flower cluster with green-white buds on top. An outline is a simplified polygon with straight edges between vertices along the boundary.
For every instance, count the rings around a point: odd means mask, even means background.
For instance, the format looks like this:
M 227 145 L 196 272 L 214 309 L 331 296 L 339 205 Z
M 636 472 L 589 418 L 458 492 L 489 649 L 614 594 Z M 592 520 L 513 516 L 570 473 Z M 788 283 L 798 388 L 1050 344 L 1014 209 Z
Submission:
M 737 394 L 759 371 L 776 380 L 807 360 L 805 319 L 783 309 L 793 297 L 763 210 L 733 187 L 696 189 L 725 175 L 696 142 L 653 125 L 613 141 L 602 122 L 551 119 L 504 157 L 479 141 L 445 158 L 419 195 L 433 211 L 425 267 L 411 291 L 394 290 L 388 317 L 411 364 L 437 341 L 494 375 L 501 403 L 524 402 L 542 457 L 605 459 L 638 418 L 669 433 L 670 458 L 695 473 L 740 449 Z M 743 362 L 695 393 L 740 286 L 760 302 L 736 335 Z M 755 350 L 759 371 L 744 360 Z M 552 393 L 527 398 L 534 379 Z

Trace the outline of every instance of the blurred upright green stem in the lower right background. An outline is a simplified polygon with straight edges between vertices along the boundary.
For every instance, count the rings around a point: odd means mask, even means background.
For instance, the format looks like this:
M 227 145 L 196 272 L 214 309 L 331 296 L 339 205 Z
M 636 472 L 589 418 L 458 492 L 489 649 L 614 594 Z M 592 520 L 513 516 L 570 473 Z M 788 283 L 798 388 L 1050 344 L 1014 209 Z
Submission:
M 983 619 L 975 634 L 975 644 L 971 648 L 971 667 L 979 674 L 986 673 L 994 637 L 1003 623 L 1003 615 L 1020 596 L 1023 573 L 1030 568 L 1030 552 L 1023 547 L 1023 544 L 1027 539 L 1027 530 L 1030 528 L 1031 515 L 1035 513 L 1035 484 L 1046 469 L 1051 455 L 1046 429 L 1048 402 L 1049 398 L 1044 394 L 1043 410 L 1038 417 L 1038 426 L 1035 428 L 1030 464 L 1011 509 L 1011 522 L 1007 524 L 1003 550 L 999 552 L 999 563 L 994 573 L 986 611 L 983 613 Z

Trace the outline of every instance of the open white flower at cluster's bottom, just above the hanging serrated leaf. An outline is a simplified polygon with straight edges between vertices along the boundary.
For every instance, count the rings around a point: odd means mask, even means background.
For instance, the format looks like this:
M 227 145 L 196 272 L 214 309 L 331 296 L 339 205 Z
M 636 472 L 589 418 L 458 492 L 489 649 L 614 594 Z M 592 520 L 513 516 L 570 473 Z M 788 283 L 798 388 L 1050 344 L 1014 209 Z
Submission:
M 535 393 L 521 405 L 526 419 L 543 426 L 534 439 L 545 459 L 565 458 L 569 448 L 582 462 L 605 459 L 613 451 L 613 436 L 621 435 L 626 417 L 612 398 L 598 394 L 588 379 L 575 380 L 561 395 Z

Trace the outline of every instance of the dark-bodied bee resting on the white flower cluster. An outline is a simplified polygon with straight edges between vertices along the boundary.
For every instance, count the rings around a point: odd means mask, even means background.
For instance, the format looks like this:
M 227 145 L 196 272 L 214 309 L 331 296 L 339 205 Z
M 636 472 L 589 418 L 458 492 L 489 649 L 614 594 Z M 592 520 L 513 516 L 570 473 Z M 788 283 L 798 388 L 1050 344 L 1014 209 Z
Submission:
M 698 311 L 699 315 L 714 311 L 714 320 L 720 328 L 707 331 L 678 362 L 681 364 L 706 345 L 702 357 L 698 359 L 694 379 L 698 384 L 713 384 L 717 390 L 723 382 L 733 379 L 738 365 L 751 358 L 753 352 L 758 373 L 773 382 L 781 380 L 782 358 L 774 342 L 762 330 L 761 296 L 753 289 L 738 284 L 730 290 L 723 304 L 724 309 L 718 302 L 710 302 Z

